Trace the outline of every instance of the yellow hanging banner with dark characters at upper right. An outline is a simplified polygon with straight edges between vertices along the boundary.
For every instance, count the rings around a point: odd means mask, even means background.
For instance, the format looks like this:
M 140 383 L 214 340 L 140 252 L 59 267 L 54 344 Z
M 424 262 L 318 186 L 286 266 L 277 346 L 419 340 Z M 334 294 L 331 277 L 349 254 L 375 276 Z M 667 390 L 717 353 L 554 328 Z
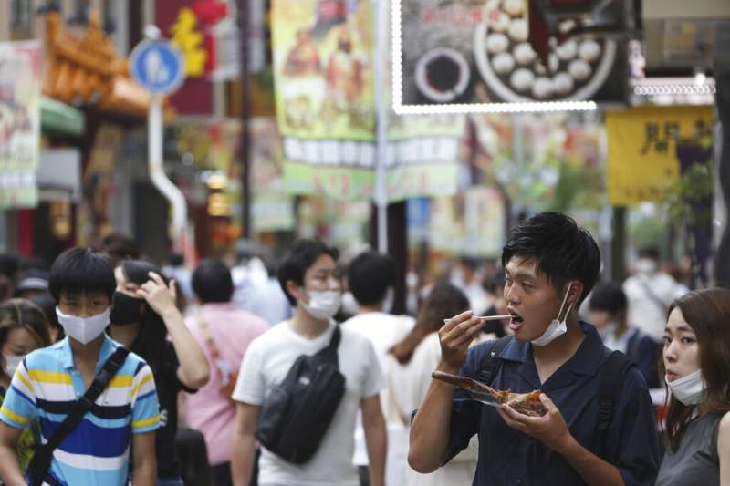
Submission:
M 606 113 L 608 192 L 614 206 L 659 201 L 680 174 L 678 144 L 712 134 L 712 107 L 639 107 Z

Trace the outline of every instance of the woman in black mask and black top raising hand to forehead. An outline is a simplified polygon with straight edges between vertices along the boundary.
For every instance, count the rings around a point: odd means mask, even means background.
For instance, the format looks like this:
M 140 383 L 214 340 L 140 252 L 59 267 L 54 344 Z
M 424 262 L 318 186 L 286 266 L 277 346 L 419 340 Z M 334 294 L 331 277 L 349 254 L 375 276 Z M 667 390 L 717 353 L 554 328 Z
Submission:
M 114 276 L 117 290 L 108 332 L 147 361 L 160 400 L 157 484 L 182 486 L 175 459 L 177 395 L 180 390 L 194 393 L 207 383 L 208 361 L 175 305 L 174 281 L 143 260 L 121 262 Z

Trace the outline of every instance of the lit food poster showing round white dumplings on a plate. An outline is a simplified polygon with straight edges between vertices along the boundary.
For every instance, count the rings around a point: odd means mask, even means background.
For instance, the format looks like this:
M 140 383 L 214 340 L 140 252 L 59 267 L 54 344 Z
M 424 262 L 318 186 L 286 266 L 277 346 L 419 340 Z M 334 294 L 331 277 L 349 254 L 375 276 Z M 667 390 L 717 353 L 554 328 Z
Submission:
M 627 94 L 626 47 L 571 36 L 547 66 L 528 42 L 527 0 L 392 0 L 401 106 L 495 102 L 620 102 Z

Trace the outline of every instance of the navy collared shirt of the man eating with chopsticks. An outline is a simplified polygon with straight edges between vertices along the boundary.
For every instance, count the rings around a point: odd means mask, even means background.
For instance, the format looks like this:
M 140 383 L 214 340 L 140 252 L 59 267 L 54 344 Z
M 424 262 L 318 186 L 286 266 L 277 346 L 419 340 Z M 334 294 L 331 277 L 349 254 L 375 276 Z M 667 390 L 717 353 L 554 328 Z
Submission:
M 652 399 L 641 372 L 627 371 L 613 416 L 601 446 L 596 434 L 598 423 L 600 369 L 610 349 L 600 341 L 594 326 L 580 323 L 586 335 L 576 353 L 545 383 L 540 383 L 532 357 L 532 346 L 512 340 L 500 354 L 501 367 L 492 383 L 494 388 L 525 393 L 540 389 L 553 400 L 572 436 L 580 445 L 616 466 L 627 486 L 652 485 L 659 467 L 659 445 Z M 469 349 L 462 374 L 476 377 L 485 352 L 494 342 Z M 585 484 L 568 461 L 538 439 L 511 429 L 496 409 L 454 396 L 451 417 L 450 456 L 466 447 L 479 434 L 479 460 L 474 486 L 500 485 L 573 485 Z

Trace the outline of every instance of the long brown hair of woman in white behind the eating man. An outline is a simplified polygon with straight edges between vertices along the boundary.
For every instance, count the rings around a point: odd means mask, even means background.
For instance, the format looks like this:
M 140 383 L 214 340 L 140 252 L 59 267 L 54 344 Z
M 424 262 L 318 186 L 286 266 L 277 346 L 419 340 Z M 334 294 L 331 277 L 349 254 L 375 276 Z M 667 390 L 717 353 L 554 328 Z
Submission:
M 389 351 L 401 365 L 411 361 L 413 351 L 421 341 L 443 326 L 443 319 L 448 319 L 469 309 L 469 299 L 464 292 L 452 284 L 436 284 L 418 310 L 416 324 L 412 331 L 391 347 Z

